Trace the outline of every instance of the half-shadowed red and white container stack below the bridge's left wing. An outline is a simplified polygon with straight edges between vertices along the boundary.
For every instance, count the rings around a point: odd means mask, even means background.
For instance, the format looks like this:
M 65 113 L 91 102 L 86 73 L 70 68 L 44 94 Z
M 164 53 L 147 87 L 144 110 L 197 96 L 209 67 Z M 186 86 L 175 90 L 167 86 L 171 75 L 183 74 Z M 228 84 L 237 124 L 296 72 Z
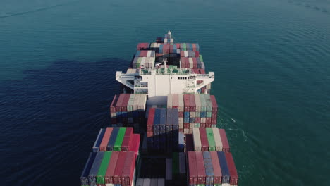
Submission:
M 111 124 L 116 127 L 133 127 L 136 131 L 143 126 L 147 94 L 115 95 L 110 105 Z

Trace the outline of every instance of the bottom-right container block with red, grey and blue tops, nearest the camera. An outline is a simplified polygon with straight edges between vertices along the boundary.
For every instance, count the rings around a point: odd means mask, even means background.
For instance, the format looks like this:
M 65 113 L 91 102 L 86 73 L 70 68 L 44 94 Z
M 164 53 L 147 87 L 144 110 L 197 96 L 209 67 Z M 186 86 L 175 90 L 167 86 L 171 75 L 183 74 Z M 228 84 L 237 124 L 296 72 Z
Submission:
M 188 151 L 188 185 L 238 185 L 238 174 L 231 153 Z

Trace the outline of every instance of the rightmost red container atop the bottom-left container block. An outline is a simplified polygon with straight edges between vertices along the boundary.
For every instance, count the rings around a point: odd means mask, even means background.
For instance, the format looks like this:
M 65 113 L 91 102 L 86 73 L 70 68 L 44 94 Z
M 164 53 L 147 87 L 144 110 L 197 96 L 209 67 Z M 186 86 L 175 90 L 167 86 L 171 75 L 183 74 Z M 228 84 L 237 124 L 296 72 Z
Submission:
M 123 173 L 121 175 L 121 185 L 130 186 L 133 181 L 133 173 L 135 168 L 135 156 L 133 151 L 128 151 L 126 160 L 123 166 Z

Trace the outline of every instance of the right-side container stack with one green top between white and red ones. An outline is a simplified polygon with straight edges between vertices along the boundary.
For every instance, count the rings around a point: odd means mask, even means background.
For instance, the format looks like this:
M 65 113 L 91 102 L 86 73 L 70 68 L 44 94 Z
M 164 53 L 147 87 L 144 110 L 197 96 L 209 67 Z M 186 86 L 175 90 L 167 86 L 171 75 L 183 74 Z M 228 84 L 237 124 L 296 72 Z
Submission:
M 224 151 L 229 152 L 229 144 L 224 129 L 193 128 L 195 151 Z

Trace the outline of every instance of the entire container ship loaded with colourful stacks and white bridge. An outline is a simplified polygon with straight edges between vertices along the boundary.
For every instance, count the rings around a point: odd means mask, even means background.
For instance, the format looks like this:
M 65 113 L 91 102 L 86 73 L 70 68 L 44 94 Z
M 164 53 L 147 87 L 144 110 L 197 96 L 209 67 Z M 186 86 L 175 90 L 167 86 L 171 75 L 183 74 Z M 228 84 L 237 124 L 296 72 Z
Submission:
M 82 186 L 238 185 L 199 44 L 175 43 L 170 31 L 139 43 L 116 81 L 122 94 L 109 103 L 111 123 L 99 130 Z

